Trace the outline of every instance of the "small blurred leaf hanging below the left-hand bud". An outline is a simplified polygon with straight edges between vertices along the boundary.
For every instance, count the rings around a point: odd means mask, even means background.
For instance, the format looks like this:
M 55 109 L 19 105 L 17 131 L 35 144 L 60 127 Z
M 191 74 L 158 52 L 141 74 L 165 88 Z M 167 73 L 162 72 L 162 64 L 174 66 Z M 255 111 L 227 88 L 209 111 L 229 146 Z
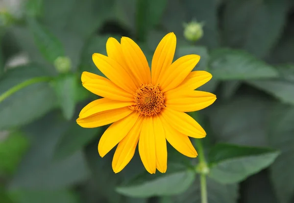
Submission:
M 54 81 L 53 85 L 63 116 L 67 120 L 72 119 L 75 108 L 75 98 L 77 94 L 76 76 L 71 74 L 60 76 Z

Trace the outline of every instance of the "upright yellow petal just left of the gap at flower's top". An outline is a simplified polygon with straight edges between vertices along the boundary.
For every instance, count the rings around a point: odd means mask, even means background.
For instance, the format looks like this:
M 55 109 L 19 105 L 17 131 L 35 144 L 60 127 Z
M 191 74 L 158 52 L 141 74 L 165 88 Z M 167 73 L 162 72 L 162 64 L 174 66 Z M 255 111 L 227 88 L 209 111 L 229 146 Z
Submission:
M 151 83 L 150 68 L 140 47 L 128 37 L 122 37 L 121 44 L 125 61 L 139 84 Z

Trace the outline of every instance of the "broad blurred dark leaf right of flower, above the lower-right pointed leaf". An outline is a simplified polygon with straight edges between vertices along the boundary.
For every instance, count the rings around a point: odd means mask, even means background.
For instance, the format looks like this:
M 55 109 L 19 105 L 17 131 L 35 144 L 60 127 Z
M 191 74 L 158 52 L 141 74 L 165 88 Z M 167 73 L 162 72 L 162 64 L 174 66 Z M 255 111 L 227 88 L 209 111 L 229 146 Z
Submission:
M 250 90 L 250 94 L 238 96 L 230 102 L 217 100 L 204 109 L 216 141 L 246 146 L 268 146 L 265 121 L 272 103 L 267 98 L 252 93 Z

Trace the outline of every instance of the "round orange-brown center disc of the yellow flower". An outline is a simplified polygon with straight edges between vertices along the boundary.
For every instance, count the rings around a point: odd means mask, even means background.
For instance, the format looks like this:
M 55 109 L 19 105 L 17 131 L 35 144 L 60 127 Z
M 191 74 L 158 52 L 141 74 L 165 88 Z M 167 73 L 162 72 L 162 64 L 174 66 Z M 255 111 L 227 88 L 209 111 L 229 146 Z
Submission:
M 142 84 L 135 93 L 134 109 L 141 115 L 153 116 L 164 107 L 164 100 L 165 96 L 160 92 L 158 86 Z

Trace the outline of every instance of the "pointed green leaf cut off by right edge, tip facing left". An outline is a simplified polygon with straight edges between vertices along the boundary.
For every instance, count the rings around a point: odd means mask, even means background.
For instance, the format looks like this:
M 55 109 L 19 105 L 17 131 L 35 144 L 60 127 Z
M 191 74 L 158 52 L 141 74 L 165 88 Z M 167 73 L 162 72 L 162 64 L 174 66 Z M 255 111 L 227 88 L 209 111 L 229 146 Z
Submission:
M 294 104 L 294 65 L 281 66 L 280 78 L 270 80 L 248 80 L 248 84 L 270 93 L 277 99 Z

